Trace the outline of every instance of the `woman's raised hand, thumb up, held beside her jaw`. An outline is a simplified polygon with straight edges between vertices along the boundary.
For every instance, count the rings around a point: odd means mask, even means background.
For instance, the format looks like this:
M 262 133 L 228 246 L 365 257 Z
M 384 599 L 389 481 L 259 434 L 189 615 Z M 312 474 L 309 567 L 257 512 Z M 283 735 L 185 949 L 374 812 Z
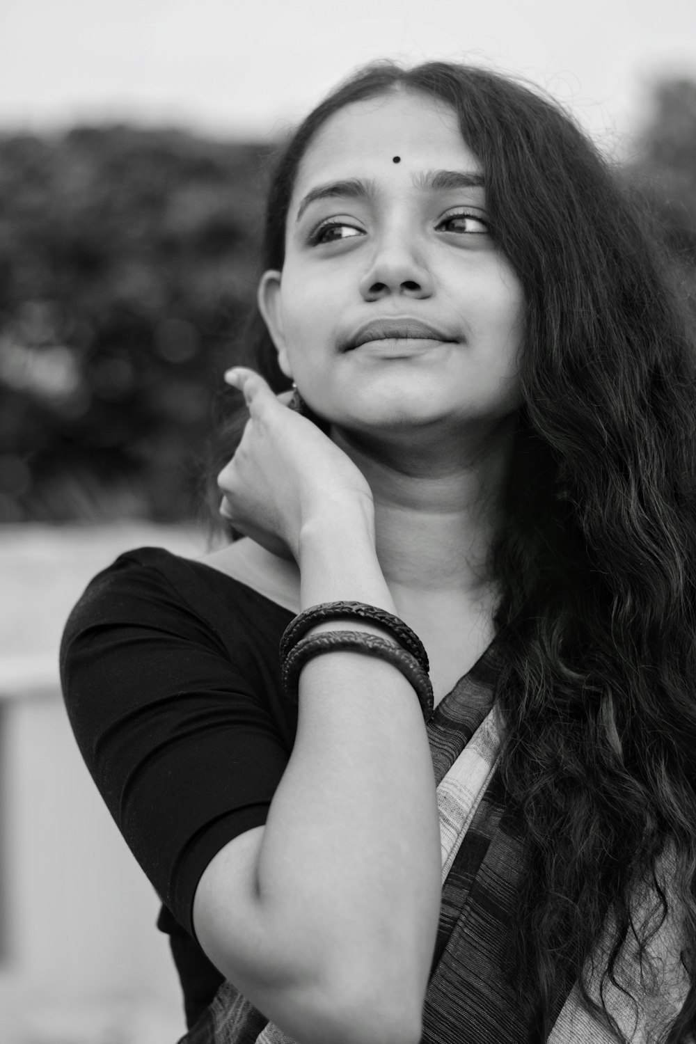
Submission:
M 277 396 L 254 370 L 224 375 L 246 401 L 249 420 L 231 461 L 218 475 L 220 514 L 262 547 L 295 562 L 302 528 L 333 507 L 355 504 L 374 518 L 367 480 L 312 421 L 287 408 L 291 392 Z

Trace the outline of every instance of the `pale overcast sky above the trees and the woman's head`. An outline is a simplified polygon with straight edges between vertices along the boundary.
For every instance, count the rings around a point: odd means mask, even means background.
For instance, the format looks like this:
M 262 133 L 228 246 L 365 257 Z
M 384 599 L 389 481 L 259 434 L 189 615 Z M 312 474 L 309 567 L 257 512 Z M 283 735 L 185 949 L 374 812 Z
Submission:
M 0 0 L 0 132 L 126 120 L 272 137 L 378 57 L 526 77 L 625 156 L 653 82 L 696 78 L 696 3 Z

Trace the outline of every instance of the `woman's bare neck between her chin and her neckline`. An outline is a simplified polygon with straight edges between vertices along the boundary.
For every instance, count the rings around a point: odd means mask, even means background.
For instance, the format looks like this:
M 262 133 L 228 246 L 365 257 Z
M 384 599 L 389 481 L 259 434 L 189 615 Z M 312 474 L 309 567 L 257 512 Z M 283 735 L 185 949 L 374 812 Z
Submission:
M 332 427 L 373 491 L 377 555 L 404 599 L 486 597 L 515 427 L 508 416 L 449 445 L 421 432 L 408 446 Z

